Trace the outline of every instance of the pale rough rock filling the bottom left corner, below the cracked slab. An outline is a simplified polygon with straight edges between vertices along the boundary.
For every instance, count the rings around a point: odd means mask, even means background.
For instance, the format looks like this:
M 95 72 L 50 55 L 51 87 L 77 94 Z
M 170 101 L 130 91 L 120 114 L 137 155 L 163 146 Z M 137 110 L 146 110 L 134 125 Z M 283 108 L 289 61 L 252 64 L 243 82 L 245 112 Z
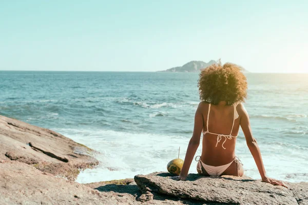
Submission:
M 153 199 L 141 203 L 137 185 L 109 184 L 91 189 L 80 183 L 56 178 L 15 160 L 0 160 L 0 204 L 174 204 L 181 201 Z M 186 203 L 192 204 L 192 203 Z

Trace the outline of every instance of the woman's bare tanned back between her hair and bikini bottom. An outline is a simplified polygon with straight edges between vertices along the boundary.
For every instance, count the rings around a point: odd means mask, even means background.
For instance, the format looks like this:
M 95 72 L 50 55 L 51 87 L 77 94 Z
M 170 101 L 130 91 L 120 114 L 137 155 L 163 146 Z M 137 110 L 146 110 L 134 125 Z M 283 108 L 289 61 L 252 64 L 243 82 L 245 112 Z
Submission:
M 237 136 L 240 127 L 240 116 L 234 119 L 235 105 L 210 105 L 202 102 L 203 134 L 201 160 L 210 166 L 221 166 L 235 157 L 236 137 L 221 138 L 218 134 Z M 208 112 L 210 109 L 210 112 Z M 237 111 L 236 111 L 237 112 Z M 208 117 L 207 117 L 208 116 Z M 208 121 L 207 121 L 208 119 Z M 208 124 L 208 128 L 207 128 Z M 232 131 L 232 133 L 230 133 Z M 224 142 L 224 143 L 223 143 Z M 223 146 L 222 146 L 223 144 Z M 224 149 L 225 148 L 225 149 Z

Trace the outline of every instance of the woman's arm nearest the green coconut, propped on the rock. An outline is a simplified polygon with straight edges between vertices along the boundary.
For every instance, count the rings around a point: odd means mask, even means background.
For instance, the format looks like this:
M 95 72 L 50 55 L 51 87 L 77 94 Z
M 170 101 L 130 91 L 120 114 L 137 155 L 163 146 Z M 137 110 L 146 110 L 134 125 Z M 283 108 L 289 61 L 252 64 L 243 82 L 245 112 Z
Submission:
M 196 151 L 199 147 L 200 136 L 201 136 L 201 132 L 203 129 L 203 115 L 201 112 L 202 106 L 203 106 L 203 103 L 201 102 L 195 114 L 194 132 L 192 133 L 192 137 L 190 138 L 190 141 L 187 147 L 183 168 L 181 170 L 180 176 L 175 177 L 176 180 L 186 180 L 189 167 L 191 165 L 191 161 L 192 159 L 194 159 Z

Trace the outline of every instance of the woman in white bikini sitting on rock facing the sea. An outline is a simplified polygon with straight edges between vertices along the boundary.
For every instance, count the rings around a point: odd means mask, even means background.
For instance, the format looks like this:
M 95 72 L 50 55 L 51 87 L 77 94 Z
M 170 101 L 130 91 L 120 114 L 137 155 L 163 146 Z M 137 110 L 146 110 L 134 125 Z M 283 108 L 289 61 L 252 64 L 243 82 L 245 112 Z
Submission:
M 248 113 L 242 102 L 247 96 L 247 81 L 239 66 L 226 63 L 207 67 L 198 81 L 199 104 L 195 114 L 194 133 L 189 141 L 184 165 L 176 180 L 185 180 L 203 131 L 202 154 L 197 171 L 205 176 L 243 176 L 243 166 L 235 156 L 236 137 L 241 126 L 262 181 L 272 185 L 286 185 L 269 178 L 263 166 L 261 153 L 253 137 Z

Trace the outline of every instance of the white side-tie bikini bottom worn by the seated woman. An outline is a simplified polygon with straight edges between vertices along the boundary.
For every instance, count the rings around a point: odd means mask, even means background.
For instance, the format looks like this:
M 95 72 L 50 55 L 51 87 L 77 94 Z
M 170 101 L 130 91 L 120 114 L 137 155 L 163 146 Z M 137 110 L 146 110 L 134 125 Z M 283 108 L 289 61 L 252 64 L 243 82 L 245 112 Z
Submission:
M 197 157 L 200 157 L 199 160 L 197 160 Z M 197 157 L 195 158 L 195 160 L 198 161 L 198 164 L 197 164 L 197 171 L 198 171 L 198 173 L 200 171 L 201 174 L 202 174 L 202 167 L 203 167 L 204 170 L 210 176 L 220 176 L 232 164 L 233 161 L 235 161 L 237 163 L 238 174 L 239 174 L 240 164 L 243 165 L 241 160 L 238 157 L 234 157 L 233 160 L 230 163 L 227 163 L 226 165 L 216 166 L 216 167 L 215 166 L 206 165 L 205 163 L 203 163 L 201 161 L 201 156 L 197 156 Z

